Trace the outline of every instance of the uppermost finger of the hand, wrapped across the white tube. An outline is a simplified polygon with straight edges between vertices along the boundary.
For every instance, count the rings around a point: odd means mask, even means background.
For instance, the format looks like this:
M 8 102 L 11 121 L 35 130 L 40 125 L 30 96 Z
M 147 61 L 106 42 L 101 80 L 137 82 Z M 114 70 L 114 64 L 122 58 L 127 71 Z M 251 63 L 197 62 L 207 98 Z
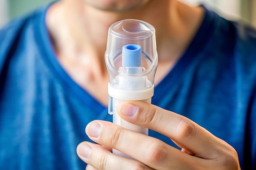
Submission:
M 217 138 L 182 115 L 141 101 L 121 102 L 117 106 L 117 112 L 121 118 L 132 124 L 170 137 L 198 157 L 215 159 L 214 156 L 218 156 L 215 148 Z

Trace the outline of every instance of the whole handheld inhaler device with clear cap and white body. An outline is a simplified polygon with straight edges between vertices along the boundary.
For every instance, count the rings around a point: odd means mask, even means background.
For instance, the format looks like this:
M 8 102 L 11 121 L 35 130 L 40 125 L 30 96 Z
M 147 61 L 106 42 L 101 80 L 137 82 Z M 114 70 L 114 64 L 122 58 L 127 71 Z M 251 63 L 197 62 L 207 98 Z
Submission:
M 148 135 L 148 128 L 130 124 L 117 114 L 117 105 L 124 100 L 151 103 L 157 69 L 155 28 L 140 20 L 121 20 L 108 30 L 105 53 L 109 74 L 108 113 L 113 123 Z M 116 155 L 131 158 L 113 149 Z

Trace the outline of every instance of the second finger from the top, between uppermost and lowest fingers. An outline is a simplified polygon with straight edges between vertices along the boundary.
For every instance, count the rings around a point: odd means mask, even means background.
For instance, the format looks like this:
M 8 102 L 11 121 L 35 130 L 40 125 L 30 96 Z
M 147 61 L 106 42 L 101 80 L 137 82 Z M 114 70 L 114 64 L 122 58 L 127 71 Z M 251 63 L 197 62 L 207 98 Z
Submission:
M 201 159 L 198 157 L 193 157 L 158 139 L 124 129 L 108 121 L 92 121 L 86 126 L 85 132 L 98 144 L 124 152 L 153 169 L 171 170 L 182 165 L 182 168 L 186 170 L 189 167 L 202 166 Z

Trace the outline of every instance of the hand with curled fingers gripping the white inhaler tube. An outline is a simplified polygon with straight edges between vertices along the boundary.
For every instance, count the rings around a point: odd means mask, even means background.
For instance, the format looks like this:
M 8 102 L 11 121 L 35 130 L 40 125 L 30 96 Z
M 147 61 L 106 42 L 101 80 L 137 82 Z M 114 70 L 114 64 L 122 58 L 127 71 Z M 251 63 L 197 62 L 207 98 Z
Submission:
M 108 121 L 92 121 L 85 132 L 98 144 L 77 147 L 87 170 L 240 170 L 234 148 L 182 115 L 141 101 L 122 102 L 117 111 L 132 124 L 166 135 L 182 150 Z M 134 160 L 114 155 L 110 148 Z

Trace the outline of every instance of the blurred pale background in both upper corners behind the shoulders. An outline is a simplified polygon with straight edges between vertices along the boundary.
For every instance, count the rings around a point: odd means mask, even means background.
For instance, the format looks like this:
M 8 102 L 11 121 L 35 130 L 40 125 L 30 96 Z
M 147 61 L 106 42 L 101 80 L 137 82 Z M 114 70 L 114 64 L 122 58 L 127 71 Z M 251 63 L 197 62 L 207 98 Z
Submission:
M 0 0 L 0 27 L 53 0 Z M 204 4 L 230 20 L 241 20 L 256 27 L 256 0 L 180 0 L 192 6 Z

